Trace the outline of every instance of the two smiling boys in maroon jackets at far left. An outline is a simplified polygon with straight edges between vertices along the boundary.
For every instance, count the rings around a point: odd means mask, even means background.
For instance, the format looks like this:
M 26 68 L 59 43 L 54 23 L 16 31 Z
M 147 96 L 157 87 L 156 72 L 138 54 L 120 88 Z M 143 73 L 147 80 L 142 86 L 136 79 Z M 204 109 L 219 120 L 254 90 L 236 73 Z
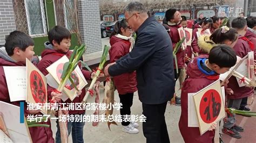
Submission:
M 62 58 L 66 55 L 70 58 L 72 52 L 69 50 L 71 45 L 71 33 L 68 29 L 62 26 L 53 27 L 48 33 L 49 42 L 45 42 L 45 49 L 42 52 L 42 60 L 36 64 L 37 68 L 42 71 L 44 75 L 48 74 L 46 70 L 53 62 Z M 19 102 L 11 102 L 9 91 L 7 88 L 7 83 L 5 79 L 3 66 L 26 66 L 26 58 L 32 60 L 34 49 L 33 39 L 20 31 L 11 32 L 5 39 L 4 47 L 0 48 L 0 101 L 14 104 L 19 106 Z M 90 72 L 82 69 L 82 73 L 86 80 L 91 80 L 95 76 L 95 72 Z M 101 74 L 102 76 L 102 74 Z M 55 88 L 52 88 L 48 85 L 48 99 L 49 102 L 54 97 L 54 102 L 60 102 L 62 94 L 56 91 Z M 85 96 L 85 89 L 82 89 L 82 92 L 78 92 L 78 97 L 73 101 L 70 99 L 66 100 L 65 103 L 82 103 L 82 100 Z M 23 101 L 25 102 L 25 101 Z M 63 102 L 63 101 L 62 101 Z M 63 102 L 64 103 L 64 102 Z M 27 104 L 25 103 L 25 117 L 26 115 L 40 115 L 39 110 L 27 110 Z M 69 115 L 83 115 L 85 110 L 72 110 L 69 111 Z M 42 115 L 42 114 L 41 114 Z M 56 142 L 61 142 L 60 139 L 60 128 L 59 122 L 57 123 L 57 132 L 56 132 Z M 50 120 L 46 123 L 51 125 Z M 72 141 L 73 142 L 83 142 L 83 128 L 84 122 L 68 122 L 68 134 L 72 131 Z M 55 142 L 52 136 L 52 130 L 50 127 L 29 127 L 31 138 L 33 142 Z

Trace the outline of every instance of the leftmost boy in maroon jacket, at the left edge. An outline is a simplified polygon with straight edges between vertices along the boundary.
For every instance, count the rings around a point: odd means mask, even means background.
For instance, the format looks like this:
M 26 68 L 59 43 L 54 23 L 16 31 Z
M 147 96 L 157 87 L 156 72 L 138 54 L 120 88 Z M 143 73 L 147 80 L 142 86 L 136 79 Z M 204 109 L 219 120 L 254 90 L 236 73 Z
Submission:
M 4 47 L 0 48 L 0 101 L 19 106 L 20 101 L 10 101 L 3 66 L 26 66 L 26 58 L 31 60 L 33 54 L 35 54 L 33 51 L 34 41 L 29 35 L 14 31 L 5 39 Z M 57 96 L 57 98 L 60 97 L 59 94 Z M 41 114 L 39 110 L 27 110 L 26 105 L 25 103 L 25 116 L 28 114 Z M 54 142 L 50 120 L 46 124 L 50 125 L 50 127 L 29 127 L 33 142 Z

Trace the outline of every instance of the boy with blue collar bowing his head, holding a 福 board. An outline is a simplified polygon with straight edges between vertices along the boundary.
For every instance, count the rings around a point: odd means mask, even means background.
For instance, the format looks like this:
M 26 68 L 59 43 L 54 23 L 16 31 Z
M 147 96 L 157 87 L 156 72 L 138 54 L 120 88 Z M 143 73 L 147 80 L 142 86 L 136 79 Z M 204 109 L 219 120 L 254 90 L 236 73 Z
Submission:
M 199 55 L 187 66 L 188 78 L 181 89 L 181 115 L 179 130 L 185 142 L 213 142 L 215 124 L 211 130 L 200 135 L 199 127 L 188 127 L 187 94 L 195 93 L 219 79 L 219 74 L 226 73 L 235 65 L 237 56 L 227 45 L 218 45 L 211 49 L 209 55 Z

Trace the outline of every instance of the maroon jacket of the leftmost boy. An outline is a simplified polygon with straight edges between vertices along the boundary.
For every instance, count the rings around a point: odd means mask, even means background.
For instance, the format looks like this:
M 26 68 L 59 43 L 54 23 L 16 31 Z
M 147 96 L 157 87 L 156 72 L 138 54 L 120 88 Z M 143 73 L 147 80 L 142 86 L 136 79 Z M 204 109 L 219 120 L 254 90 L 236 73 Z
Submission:
M 19 106 L 19 101 L 17 102 L 11 102 L 9 91 L 5 79 L 4 69 L 3 66 L 25 66 L 25 63 L 22 62 L 15 62 L 8 56 L 5 52 L 1 51 L 0 49 L 0 101 L 10 103 L 16 106 Z M 25 117 L 28 115 L 28 110 L 26 110 L 26 102 L 25 103 Z M 7 109 L 8 110 L 8 109 Z M 41 113 L 38 113 L 38 115 L 42 115 Z M 44 123 L 50 125 L 50 127 L 29 127 L 29 132 L 32 138 L 33 142 L 54 142 L 54 139 L 52 137 L 52 131 L 51 131 L 51 122 L 48 120 L 48 122 Z

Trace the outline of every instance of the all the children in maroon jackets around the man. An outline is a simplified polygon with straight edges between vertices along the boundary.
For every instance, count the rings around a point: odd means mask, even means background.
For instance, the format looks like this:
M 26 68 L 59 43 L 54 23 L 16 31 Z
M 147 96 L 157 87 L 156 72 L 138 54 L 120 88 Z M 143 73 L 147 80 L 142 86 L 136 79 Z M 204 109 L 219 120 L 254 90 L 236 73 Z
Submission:
M 186 27 L 186 18 L 181 17 L 181 14 L 176 9 L 169 9 L 165 14 L 166 25 L 169 27 L 169 35 L 172 40 L 172 46 L 175 47 L 180 41 L 178 28 Z M 187 78 L 182 84 L 181 98 L 177 98 L 181 102 L 181 116 L 179 120 L 179 129 L 185 142 L 213 142 L 214 125 L 211 130 L 203 135 L 200 135 L 198 127 L 188 127 L 188 93 L 197 92 L 207 85 L 219 79 L 219 74 L 228 71 L 237 62 L 237 56 L 244 58 L 248 52 L 255 51 L 256 46 L 256 18 L 247 17 L 235 18 L 232 21 L 232 27 L 220 27 L 220 18 L 202 18 L 201 21 L 194 25 L 192 34 L 192 44 L 187 46 L 185 50 L 180 49 L 177 53 L 178 73 L 175 74 L 175 80 L 179 78 L 181 72 L 187 74 Z M 180 24 L 181 23 L 181 24 Z M 165 25 L 165 26 L 166 26 Z M 200 35 L 198 37 L 198 28 L 203 31 L 210 31 L 209 35 Z M 131 41 L 132 31 L 129 29 L 127 23 L 122 20 L 116 24 L 115 31 L 111 35 L 110 44 L 110 60 L 114 62 L 120 57 L 129 53 L 132 50 L 133 42 Z M 44 43 L 45 49 L 42 52 L 42 60 L 36 64 L 37 68 L 42 71 L 44 75 L 48 74 L 46 70 L 53 62 L 66 55 L 70 58 L 72 52 L 69 51 L 71 45 L 71 33 L 65 27 L 55 26 L 48 33 L 49 41 Z M 119 42 L 122 41 L 122 42 Z M 0 101 L 11 103 L 19 106 L 19 102 L 11 102 L 7 83 L 5 79 L 3 66 L 25 66 L 26 58 L 32 59 L 34 49 L 34 42 L 29 35 L 14 31 L 11 32 L 5 39 L 4 47 L 0 48 Z M 194 58 L 192 58 L 194 53 Z M 256 58 L 254 52 L 254 58 Z M 186 61 L 187 56 L 191 61 Z M 176 69 L 174 63 L 174 70 Z M 91 80 L 95 76 L 94 72 L 82 69 L 82 73 L 86 80 Z M 103 76 L 103 75 L 102 75 Z M 114 77 L 117 90 L 119 92 L 120 102 L 123 103 L 124 108 L 120 111 L 121 115 L 129 115 L 133 100 L 133 92 L 137 90 L 136 73 L 127 73 Z M 253 88 L 239 87 L 235 77 L 231 77 L 229 82 L 225 84 L 227 93 L 228 108 L 241 109 L 242 101 L 246 101 L 246 97 L 253 95 Z M 68 99 L 65 103 L 80 103 L 85 96 L 85 89 L 79 92 L 79 96 L 73 101 Z M 48 85 L 48 99 L 54 97 L 55 102 L 61 100 L 62 94 Z M 246 104 L 245 104 L 246 105 Z M 243 107 L 242 109 L 244 109 Z M 41 114 L 38 110 L 27 110 L 25 104 L 25 115 Z M 83 115 L 85 111 L 69 111 L 71 115 Z M 56 142 L 60 140 L 60 129 L 58 120 Z M 47 124 L 51 125 L 50 121 Z M 69 122 L 68 134 L 72 131 L 73 142 L 83 142 L 83 127 L 85 123 Z M 129 133 L 138 133 L 134 127 L 138 127 L 137 123 L 122 122 L 123 131 Z M 55 142 L 52 137 L 51 127 L 30 127 L 29 128 L 33 142 Z M 223 132 L 231 135 L 234 138 L 241 138 L 239 132 L 244 131 L 244 128 L 235 124 L 235 115 L 228 115 L 224 119 Z

